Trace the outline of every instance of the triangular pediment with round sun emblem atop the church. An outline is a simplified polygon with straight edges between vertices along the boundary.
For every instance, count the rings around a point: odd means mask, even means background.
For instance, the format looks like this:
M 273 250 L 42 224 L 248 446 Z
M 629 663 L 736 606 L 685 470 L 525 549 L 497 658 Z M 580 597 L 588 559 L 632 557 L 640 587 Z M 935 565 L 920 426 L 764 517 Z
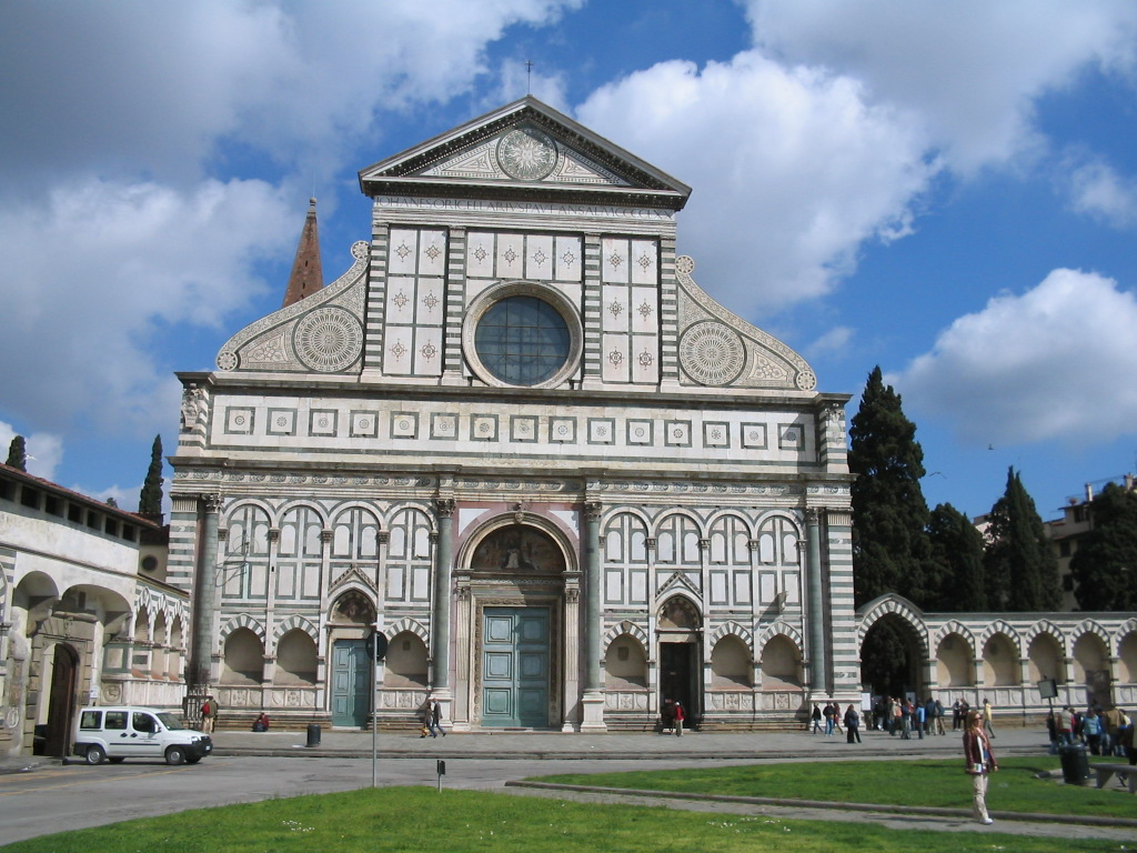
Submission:
M 371 196 L 573 197 L 678 210 L 690 188 L 524 98 L 359 173 Z

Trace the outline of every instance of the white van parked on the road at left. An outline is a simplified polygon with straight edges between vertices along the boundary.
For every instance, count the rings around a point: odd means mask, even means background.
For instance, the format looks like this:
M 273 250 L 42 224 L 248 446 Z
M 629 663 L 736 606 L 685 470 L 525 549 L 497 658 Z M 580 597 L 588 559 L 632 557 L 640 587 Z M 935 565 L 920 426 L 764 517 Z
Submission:
M 103 759 L 165 759 L 167 764 L 197 764 L 213 752 L 213 738 L 188 729 L 168 711 L 153 707 L 98 706 L 78 712 L 74 753 L 88 764 Z

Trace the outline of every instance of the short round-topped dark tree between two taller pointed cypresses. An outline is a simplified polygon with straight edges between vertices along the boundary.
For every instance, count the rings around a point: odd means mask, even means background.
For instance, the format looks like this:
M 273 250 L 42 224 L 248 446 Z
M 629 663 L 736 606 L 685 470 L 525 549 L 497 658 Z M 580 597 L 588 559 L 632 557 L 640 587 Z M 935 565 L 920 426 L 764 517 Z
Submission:
M 984 536 L 971 519 L 951 504 L 931 511 L 928 522 L 931 571 L 928 610 L 972 613 L 987 610 Z

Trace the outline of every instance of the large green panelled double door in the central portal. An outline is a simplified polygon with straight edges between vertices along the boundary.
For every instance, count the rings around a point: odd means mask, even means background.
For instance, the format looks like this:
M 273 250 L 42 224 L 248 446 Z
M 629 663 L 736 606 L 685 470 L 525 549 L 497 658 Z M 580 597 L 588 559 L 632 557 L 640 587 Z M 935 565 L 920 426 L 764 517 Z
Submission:
M 482 612 L 482 726 L 549 724 L 549 611 Z

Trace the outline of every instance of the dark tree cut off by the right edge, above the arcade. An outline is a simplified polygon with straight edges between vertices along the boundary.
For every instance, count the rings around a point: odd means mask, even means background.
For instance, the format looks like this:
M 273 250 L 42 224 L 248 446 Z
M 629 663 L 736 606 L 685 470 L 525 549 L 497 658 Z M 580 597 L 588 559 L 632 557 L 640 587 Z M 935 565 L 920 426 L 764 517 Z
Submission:
M 1094 527 L 1070 558 L 1082 610 L 1137 610 L 1137 494 L 1110 483 L 1089 505 Z

